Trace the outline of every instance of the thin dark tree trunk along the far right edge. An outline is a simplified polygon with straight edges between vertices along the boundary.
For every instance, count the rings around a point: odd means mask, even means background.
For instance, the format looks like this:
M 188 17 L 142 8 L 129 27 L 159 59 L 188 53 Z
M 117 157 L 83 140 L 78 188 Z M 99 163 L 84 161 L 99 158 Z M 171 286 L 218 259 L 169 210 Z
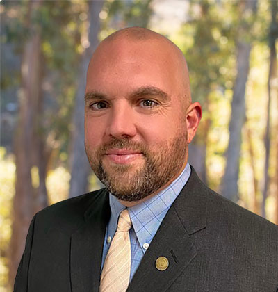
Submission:
M 276 93 L 275 82 L 277 82 L 277 59 L 275 42 L 277 38 L 277 1 L 270 1 L 271 7 L 271 23 L 269 31 L 269 47 L 270 47 L 270 68 L 268 74 L 268 101 L 266 113 L 266 128 L 265 128 L 265 168 L 263 172 L 263 201 L 261 204 L 261 214 L 265 217 L 265 201 L 268 197 L 268 185 L 270 177 L 268 175 L 269 158 L 270 158 L 270 102 L 272 95 Z

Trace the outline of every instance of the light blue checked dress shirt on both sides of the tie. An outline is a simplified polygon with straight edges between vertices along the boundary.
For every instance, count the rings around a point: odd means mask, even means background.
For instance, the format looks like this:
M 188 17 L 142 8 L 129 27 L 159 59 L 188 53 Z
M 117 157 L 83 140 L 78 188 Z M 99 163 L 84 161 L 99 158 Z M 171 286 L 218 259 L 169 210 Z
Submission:
M 142 257 L 144 256 L 149 244 L 154 238 L 158 227 L 161 225 L 167 211 L 185 186 L 190 177 L 190 165 L 187 163 L 181 175 L 175 179 L 170 186 L 167 186 L 161 193 L 158 193 L 149 200 L 142 202 L 136 206 L 127 208 L 131 218 L 132 227 L 129 231 L 131 240 L 131 275 L 130 281 L 135 274 Z M 104 241 L 104 250 L 102 254 L 101 270 L 104 266 L 104 261 L 110 243 L 117 229 L 117 221 L 120 213 L 126 209 L 116 197 L 109 194 L 111 218 L 106 227 L 106 236 Z

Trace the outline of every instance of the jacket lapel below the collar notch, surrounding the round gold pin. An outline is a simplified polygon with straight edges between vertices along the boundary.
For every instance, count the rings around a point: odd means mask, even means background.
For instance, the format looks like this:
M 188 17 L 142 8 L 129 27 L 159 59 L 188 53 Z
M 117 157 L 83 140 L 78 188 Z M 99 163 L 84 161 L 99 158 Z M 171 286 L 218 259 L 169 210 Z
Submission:
M 174 209 L 170 209 L 167 220 L 161 223 L 127 291 L 166 291 L 196 254 L 193 241 Z M 162 256 L 169 261 L 168 268 L 163 271 L 155 265 L 156 259 Z

